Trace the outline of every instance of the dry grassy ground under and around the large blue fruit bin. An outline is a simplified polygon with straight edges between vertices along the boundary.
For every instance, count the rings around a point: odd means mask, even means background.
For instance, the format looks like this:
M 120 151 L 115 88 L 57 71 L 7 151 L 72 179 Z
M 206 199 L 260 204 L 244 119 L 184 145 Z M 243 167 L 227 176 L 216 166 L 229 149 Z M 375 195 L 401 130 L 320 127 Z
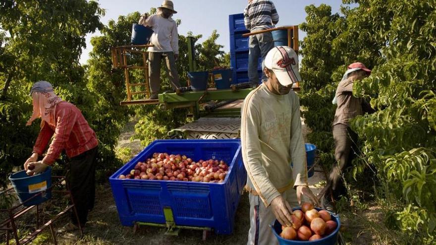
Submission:
M 80 240 L 64 237 L 60 245 L 117 245 L 117 244 L 150 244 L 150 245 L 242 245 L 247 243 L 249 228 L 248 195 L 243 195 L 235 218 L 234 234 L 217 236 L 211 234 L 206 242 L 202 241 L 202 232 L 181 230 L 179 236 L 164 235 L 166 229 L 141 226 L 137 233 L 131 227 L 123 227 L 119 223 L 118 213 L 108 185 L 98 188 L 96 207 L 90 213 L 89 227 Z M 60 240 L 60 239 L 59 239 Z

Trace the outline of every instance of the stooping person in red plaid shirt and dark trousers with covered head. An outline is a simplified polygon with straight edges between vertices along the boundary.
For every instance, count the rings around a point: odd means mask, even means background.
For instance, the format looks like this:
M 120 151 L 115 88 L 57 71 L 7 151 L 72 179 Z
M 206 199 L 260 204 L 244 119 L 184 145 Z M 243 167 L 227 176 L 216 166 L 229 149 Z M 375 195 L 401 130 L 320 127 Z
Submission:
M 95 159 L 98 140 L 95 132 L 89 127 L 80 110 L 73 104 L 56 96 L 53 87 L 46 81 L 33 85 L 33 113 L 27 125 L 41 117 L 41 131 L 33 147 L 32 155 L 24 163 L 28 175 L 44 172 L 53 165 L 62 150 L 70 159 L 66 180 L 78 214 L 71 214 L 71 223 L 63 231 L 78 229 L 87 222 L 89 210 L 94 207 L 95 199 Z M 40 161 L 50 140 L 52 143 L 46 155 Z

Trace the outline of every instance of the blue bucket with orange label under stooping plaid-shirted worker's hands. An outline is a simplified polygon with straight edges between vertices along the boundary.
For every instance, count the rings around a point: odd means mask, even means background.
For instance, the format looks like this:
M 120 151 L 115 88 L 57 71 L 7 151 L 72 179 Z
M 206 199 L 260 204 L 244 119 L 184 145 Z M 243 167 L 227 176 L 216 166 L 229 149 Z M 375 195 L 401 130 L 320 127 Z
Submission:
M 10 183 L 18 196 L 20 203 L 24 206 L 40 204 L 52 198 L 52 168 L 48 167 L 45 172 L 28 176 L 25 170 L 13 173 L 9 176 Z M 42 194 L 35 196 L 38 193 Z M 30 197 L 34 198 L 26 201 Z

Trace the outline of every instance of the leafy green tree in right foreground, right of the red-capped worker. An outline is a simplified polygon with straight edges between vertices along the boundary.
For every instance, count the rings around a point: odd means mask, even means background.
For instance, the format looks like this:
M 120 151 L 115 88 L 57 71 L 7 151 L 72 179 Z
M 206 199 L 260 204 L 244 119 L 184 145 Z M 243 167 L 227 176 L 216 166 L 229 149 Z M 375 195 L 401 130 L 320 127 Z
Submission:
M 384 108 L 357 118 L 353 129 L 365 138 L 363 150 L 379 176 L 401 190 L 395 193 L 407 206 L 397 213 L 400 228 L 419 231 L 423 243 L 436 235 L 435 8 L 436 1 L 388 1 L 390 25 L 378 34 L 389 45 L 372 76 L 354 89 L 376 95 L 371 104 Z

